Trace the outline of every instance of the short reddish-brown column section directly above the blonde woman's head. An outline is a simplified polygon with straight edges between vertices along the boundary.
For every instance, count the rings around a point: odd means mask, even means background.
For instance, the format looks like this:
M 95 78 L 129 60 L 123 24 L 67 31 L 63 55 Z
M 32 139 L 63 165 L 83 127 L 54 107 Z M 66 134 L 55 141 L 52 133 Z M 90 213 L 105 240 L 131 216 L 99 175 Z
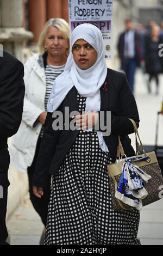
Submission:
M 47 20 L 62 17 L 62 1 L 47 0 Z

